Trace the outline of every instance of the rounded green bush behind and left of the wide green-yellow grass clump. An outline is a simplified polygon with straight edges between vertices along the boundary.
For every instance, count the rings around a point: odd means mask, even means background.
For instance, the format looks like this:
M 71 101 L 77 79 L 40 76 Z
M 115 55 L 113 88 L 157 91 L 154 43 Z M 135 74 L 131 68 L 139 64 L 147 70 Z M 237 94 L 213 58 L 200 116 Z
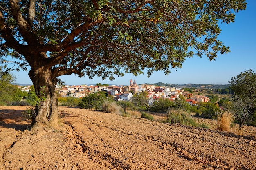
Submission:
M 169 99 L 160 98 L 158 101 L 153 103 L 153 106 L 150 107 L 150 111 L 158 113 L 166 113 L 167 110 L 173 106 L 173 102 Z

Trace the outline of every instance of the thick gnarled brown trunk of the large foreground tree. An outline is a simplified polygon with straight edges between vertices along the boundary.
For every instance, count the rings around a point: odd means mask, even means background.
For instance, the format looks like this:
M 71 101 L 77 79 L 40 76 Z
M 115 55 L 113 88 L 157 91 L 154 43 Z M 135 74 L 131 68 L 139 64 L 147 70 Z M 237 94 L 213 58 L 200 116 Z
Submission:
M 51 68 L 31 69 L 29 77 L 38 96 L 35 116 L 32 118 L 32 129 L 56 127 L 58 125 L 58 97 L 55 93 L 57 81 L 52 77 Z

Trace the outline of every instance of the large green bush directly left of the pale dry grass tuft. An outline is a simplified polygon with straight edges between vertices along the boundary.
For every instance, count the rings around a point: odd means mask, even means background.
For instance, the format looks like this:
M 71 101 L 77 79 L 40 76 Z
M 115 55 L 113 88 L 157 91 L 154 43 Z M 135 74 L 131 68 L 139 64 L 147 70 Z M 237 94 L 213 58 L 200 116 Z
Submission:
M 82 98 L 79 103 L 80 108 L 101 110 L 104 101 L 107 99 L 107 94 L 103 91 L 90 93 Z

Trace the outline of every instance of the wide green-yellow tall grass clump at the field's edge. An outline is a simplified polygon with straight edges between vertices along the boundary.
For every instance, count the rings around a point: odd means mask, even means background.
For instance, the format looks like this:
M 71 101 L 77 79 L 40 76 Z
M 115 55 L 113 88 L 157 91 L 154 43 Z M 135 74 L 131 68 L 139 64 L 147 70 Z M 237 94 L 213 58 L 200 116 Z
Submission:
M 179 123 L 191 126 L 198 126 L 198 124 L 192 119 L 190 113 L 184 109 L 170 108 L 167 111 L 167 123 Z

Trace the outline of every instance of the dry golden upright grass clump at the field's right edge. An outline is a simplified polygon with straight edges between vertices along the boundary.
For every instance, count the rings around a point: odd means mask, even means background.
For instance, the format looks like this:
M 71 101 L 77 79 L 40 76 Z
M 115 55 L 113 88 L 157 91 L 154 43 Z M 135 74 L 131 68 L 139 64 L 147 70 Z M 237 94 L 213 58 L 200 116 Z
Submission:
M 218 111 L 216 113 L 216 119 L 217 119 L 217 129 L 221 131 L 229 132 L 231 124 L 235 120 L 235 116 L 229 110 L 225 110 L 224 112 Z

